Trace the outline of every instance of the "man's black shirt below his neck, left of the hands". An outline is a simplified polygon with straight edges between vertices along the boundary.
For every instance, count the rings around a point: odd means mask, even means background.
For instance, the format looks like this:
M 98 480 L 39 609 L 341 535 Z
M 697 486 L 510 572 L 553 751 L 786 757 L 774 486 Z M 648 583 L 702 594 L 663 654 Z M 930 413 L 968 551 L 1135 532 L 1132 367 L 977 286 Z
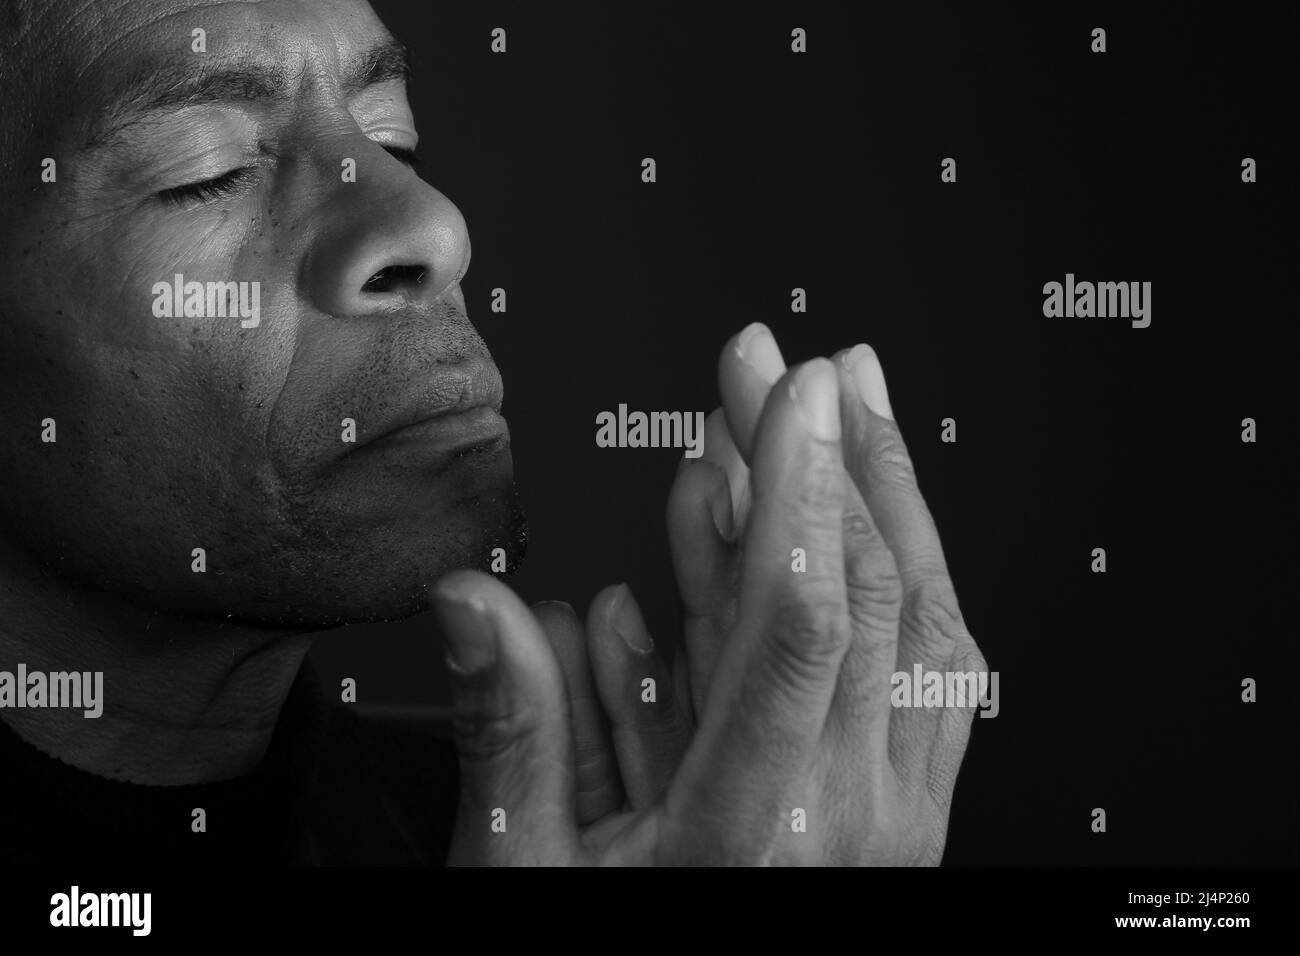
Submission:
M 261 765 L 156 787 L 78 770 L 0 719 L 0 866 L 442 865 L 458 766 L 439 736 L 324 698 L 303 665 Z M 194 832 L 194 810 L 207 831 Z

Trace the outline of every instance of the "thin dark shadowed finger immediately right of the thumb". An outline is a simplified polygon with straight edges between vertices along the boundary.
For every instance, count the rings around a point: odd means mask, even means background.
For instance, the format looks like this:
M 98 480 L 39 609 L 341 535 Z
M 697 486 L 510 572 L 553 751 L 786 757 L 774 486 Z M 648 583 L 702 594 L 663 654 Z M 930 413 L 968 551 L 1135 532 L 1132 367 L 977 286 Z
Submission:
M 546 632 L 564 674 L 573 719 L 577 822 L 586 826 L 623 809 L 623 782 L 619 779 L 610 726 L 586 659 L 582 623 L 573 609 L 562 601 L 543 601 L 533 605 L 533 615 Z

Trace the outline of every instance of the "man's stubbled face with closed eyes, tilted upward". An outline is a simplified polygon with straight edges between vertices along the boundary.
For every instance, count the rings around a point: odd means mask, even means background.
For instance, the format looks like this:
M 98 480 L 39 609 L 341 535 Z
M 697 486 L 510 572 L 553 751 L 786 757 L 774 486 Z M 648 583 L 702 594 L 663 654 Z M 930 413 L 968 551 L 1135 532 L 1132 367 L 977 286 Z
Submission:
M 0 104 L 20 137 L 0 533 L 152 605 L 307 627 L 422 610 L 443 571 L 514 557 L 500 377 L 459 287 L 469 235 L 403 159 L 415 122 L 369 8 L 35 7 L 5 87 L 21 103 Z M 177 273 L 248 284 L 246 303 L 257 282 L 259 324 L 177 315 L 155 289 Z

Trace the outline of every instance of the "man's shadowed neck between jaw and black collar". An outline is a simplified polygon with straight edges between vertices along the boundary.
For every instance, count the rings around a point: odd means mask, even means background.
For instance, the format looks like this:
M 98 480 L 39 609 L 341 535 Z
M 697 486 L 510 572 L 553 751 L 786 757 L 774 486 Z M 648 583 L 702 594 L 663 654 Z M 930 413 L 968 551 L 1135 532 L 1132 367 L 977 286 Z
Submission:
M 312 641 L 294 628 L 139 607 L 8 548 L 0 588 L 0 671 L 17 674 L 22 663 L 29 675 L 104 675 L 99 717 L 87 718 L 87 708 L 3 706 L 0 721 L 66 763 L 133 783 L 205 783 L 255 769 Z

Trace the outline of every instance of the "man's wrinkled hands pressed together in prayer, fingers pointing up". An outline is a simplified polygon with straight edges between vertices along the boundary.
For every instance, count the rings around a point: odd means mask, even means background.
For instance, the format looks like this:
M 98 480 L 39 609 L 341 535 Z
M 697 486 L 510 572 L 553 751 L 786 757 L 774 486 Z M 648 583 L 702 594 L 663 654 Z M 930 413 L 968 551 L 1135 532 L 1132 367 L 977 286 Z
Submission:
M 451 862 L 942 857 L 975 701 L 893 708 L 890 676 L 987 666 L 880 363 L 858 346 L 786 371 L 753 325 L 719 381 L 668 502 L 675 671 L 625 587 L 584 628 L 485 575 L 441 583 L 464 770 Z

